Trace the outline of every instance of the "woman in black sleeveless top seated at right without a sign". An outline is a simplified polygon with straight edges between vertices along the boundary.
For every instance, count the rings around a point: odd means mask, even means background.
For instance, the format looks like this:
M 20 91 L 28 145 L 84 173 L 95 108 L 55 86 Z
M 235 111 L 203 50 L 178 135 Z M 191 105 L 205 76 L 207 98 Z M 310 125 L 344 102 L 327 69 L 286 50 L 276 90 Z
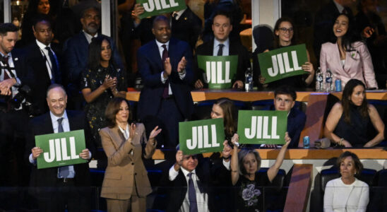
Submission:
M 367 103 L 362 81 L 351 79 L 343 90 L 341 102 L 333 105 L 326 118 L 324 136 L 345 147 L 371 147 L 384 139 L 384 124 L 374 105 Z M 372 139 L 367 135 L 370 125 L 377 131 Z

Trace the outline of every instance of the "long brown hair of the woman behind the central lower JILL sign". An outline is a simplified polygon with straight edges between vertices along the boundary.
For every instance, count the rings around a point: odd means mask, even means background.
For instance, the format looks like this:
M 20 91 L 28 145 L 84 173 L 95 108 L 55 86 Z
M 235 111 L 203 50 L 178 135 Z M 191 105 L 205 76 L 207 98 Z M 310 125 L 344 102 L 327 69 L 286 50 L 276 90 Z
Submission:
M 237 132 L 237 115 L 234 102 L 228 98 L 220 98 L 215 102 L 223 110 L 223 124 L 225 136 L 232 136 Z

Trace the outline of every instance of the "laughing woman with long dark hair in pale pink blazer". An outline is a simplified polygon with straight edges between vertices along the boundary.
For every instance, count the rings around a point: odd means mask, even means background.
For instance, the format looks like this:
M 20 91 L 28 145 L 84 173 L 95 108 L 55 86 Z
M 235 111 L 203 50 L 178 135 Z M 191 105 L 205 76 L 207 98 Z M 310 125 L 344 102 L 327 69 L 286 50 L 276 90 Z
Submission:
M 330 69 L 333 84 L 340 79 L 342 88 L 351 78 L 362 81 L 367 88 L 378 88 L 367 45 L 357 37 L 352 20 L 347 15 L 340 14 L 335 19 L 333 35 L 335 42 L 326 42 L 321 47 L 321 71 L 326 73 Z

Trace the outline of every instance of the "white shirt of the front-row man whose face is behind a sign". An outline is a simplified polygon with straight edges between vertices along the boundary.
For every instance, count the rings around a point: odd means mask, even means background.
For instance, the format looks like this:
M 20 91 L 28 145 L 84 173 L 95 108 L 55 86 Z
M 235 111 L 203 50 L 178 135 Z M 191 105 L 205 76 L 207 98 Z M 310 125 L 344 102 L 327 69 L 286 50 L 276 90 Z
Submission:
M 189 171 L 185 170 L 183 167 L 180 167 L 180 169 L 181 169 L 181 172 L 183 172 L 184 176 L 186 177 L 187 192 L 186 192 L 186 196 L 184 197 L 183 204 L 181 204 L 179 211 L 189 212 L 189 197 L 188 197 L 189 177 L 187 176 L 189 174 Z M 201 212 L 210 211 L 208 209 L 208 194 L 201 193 L 200 190 L 198 189 L 198 181 L 200 181 L 200 179 L 197 177 L 195 170 L 193 170 L 191 173 L 192 173 L 191 177 L 195 186 L 196 204 L 198 205 L 198 211 L 201 211 Z M 172 167 L 169 169 L 169 180 L 171 181 L 174 180 L 177 177 L 177 175 L 179 175 L 179 172 L 174 170 L 174 166 L 172 165 Z

